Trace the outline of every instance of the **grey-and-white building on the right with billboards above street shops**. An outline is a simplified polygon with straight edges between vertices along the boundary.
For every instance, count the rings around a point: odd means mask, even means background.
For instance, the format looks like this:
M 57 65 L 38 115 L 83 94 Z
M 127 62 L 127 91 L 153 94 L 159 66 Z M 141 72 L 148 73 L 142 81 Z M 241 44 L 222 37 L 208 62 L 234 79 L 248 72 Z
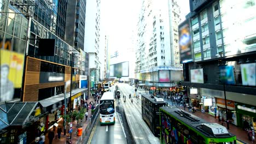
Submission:
M 248 122 L 255 130 L 255 1 L 189 2 L 179 36 L 182 85 L 188 87 L 190 102 L 239 127 Z M 183 61 L 187 58 L 193 62 Z

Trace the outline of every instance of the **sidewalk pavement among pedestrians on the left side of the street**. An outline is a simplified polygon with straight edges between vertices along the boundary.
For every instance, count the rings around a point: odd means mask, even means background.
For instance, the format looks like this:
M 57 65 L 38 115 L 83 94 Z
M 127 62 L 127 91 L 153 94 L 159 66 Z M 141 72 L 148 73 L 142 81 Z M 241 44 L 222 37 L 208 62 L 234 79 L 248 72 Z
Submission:
M 88 100 L 87 100 L 87 103 L 89 104 L 90 101 L 94 101 L 94 97 L 90 97 Z M 91 117 L 91 109 L 88 110 L 88 119 L 87 121 L 85 121 L 85 117 L 83 119 L 83 133 L 84 133 L 84 130 L 86 129 L 88 123 L 89 123 L 89 119 Z M 64 128 L 63 128 L 63 119 L 58 123 L 59 126 L 62 128 L 62 133 L 61 133 L 61 139 L 54 139 L 53 140 L 53 144 L 65 144 L 66 143 L 66 137 L 69 136 L 69 133 L 68 133 L 68 128 L 69 128 L 69 125 L 68 123 L 66 124 L 66 135 L 63 135 L 64 134 Z M 81 136 L 77 136 L 77 122 L 73 122 L 73 131 L 72 131 L 72 135 L 71 135 L 71 140 L 72 140 L 72 143 L 77 143 L 77 141 L 79 140 L 79 138 Z M 55 135 L 57 134 L 57 128 L 56 128 L 56 131 L 54 132 Z M 49 144 L 49 139 L 48 139 L 48 133 L 45 135 L 45 141 L 44 141 L 45 144 Z

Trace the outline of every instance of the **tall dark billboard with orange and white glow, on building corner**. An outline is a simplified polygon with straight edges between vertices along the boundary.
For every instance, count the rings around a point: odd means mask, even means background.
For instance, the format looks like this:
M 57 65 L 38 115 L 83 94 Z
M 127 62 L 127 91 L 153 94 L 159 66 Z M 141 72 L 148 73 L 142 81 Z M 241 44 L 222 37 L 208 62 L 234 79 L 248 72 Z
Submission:
M 179 25 L 179 53 L 181 63 L 192 62 L 192 37 L 190 33 L 189 20 L 185 20 Z

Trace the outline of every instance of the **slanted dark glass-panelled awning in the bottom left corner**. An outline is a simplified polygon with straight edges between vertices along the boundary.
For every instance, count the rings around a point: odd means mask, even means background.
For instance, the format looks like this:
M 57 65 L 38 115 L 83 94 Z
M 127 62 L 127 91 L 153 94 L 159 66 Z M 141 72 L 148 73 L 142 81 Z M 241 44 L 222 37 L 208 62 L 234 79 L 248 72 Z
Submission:
M 25 125 L 31 121 L 31 115 L 38 102 L 18 102 L 18 103 L 4 103 L 0 105 L 0 130 L 9 125 Z

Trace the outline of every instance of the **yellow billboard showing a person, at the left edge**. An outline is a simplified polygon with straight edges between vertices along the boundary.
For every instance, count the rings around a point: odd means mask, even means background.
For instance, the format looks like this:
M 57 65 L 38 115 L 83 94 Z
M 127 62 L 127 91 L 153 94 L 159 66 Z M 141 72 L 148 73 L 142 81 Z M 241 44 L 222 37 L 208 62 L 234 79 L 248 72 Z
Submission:
M 11 39 L 0 39 L 0 65 L 0 103 L 20 98 L 24 53 L 13 51 Z

